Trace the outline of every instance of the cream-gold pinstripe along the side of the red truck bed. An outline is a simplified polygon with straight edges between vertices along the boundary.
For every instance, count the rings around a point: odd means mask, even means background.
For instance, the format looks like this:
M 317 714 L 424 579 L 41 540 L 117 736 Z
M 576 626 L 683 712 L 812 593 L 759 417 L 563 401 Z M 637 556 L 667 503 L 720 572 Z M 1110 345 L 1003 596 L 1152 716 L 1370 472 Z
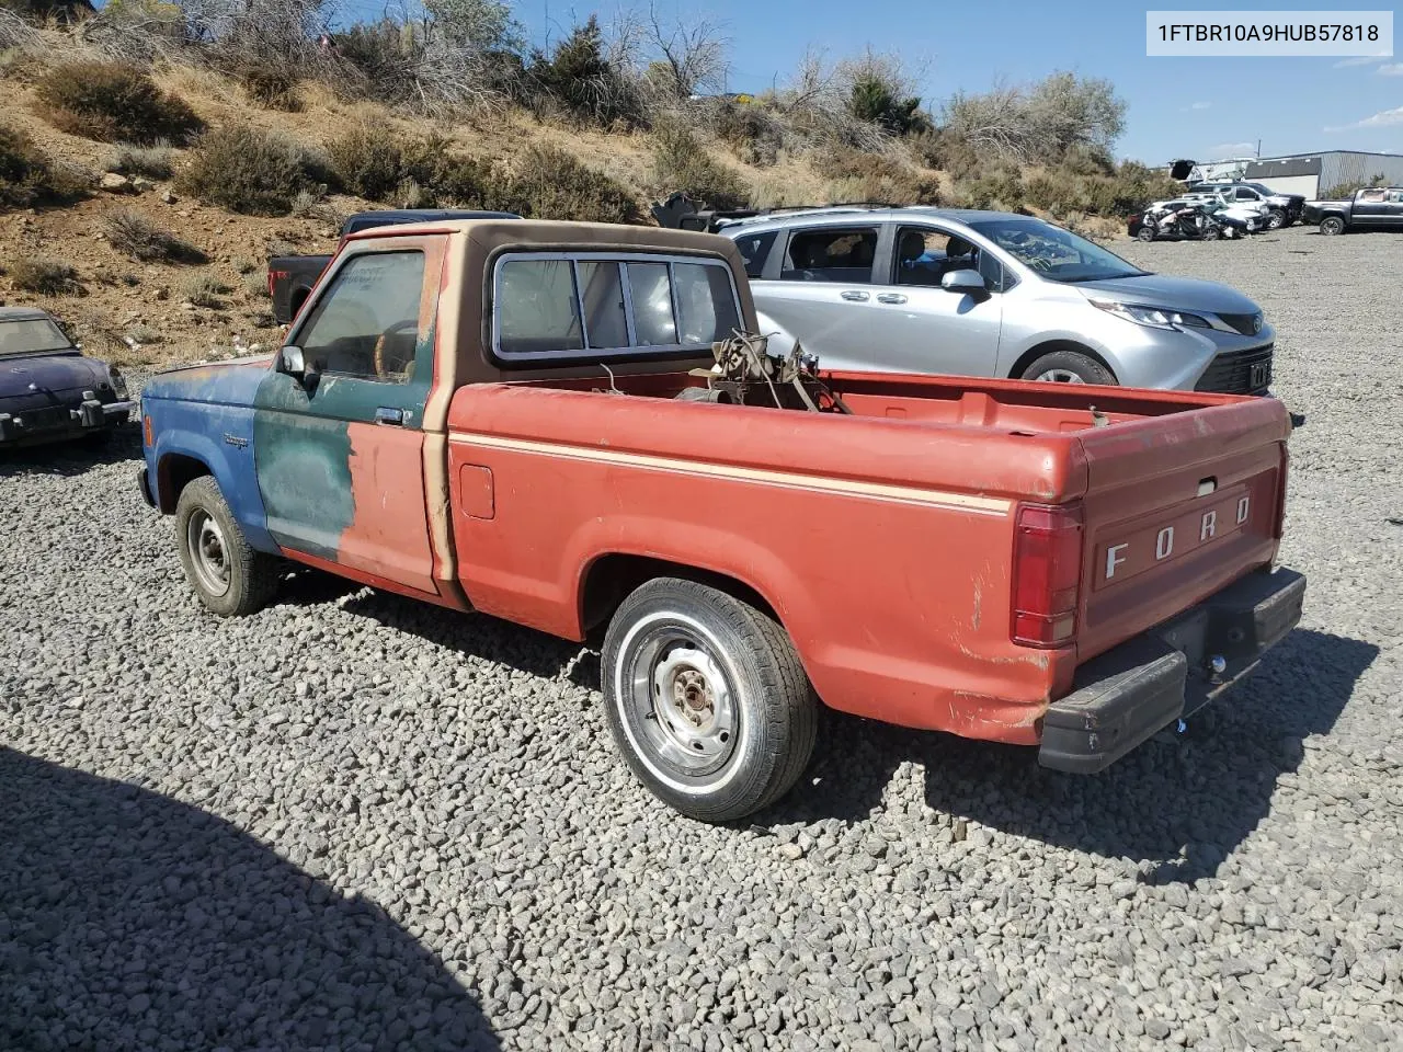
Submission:
M 920 490 L 909 485 L 890 485 L 887 483 L 859 483 L 849 478 L 828 478 L 824 476 L 805 476 L 794 471 L 770 471 L 759 467 L 738 467 L 735 464 L 716 464 L 706 460 L 678 460 L 675 457 L 659 457 L 647 453 L 624 453 L 615 449 L 600 449 L 598 446 L 572 446 L 557 442 L 535 442 L 532 439 L 502 438 L 499 435 L 480 435 L 453 432 L 449 442 L 462 446 L 484 446 L 487 449 L 505 449 L 515 453 L 540 453 L 543 456 L 568 457 L 571 460 L 588 460 L 599 464 L 627 464 L 630 467 L 644 467 L 657 471 L 678 471 L 682 474 L 706 476 L 709 478 L 734 478 L 744 483 L 762 483 L 767 485 L 786 485 L 796 490 L 810 490 L 815 492 L 847 494 L 850 497 L 867 497 L 878 501 L 899 501 L 902 504 L 923 504 L 933 508 L 948 508 L 953 511 L 974 512 L 978 515 L 1007 515 L 1010 501 L 998 497 L 976 497 L 974 494 L 957 494 L 943 490 Z

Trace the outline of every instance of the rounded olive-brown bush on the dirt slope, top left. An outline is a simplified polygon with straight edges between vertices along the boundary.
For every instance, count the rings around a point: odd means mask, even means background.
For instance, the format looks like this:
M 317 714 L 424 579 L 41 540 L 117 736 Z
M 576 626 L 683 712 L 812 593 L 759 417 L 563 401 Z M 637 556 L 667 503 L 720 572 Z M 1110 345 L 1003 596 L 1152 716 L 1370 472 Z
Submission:
M 201 128 L 184 100 L 161 91 L 140 70 L 115 62 L 55 66 L 35 94 L 55 128 L 100 142 L 182 142 Z

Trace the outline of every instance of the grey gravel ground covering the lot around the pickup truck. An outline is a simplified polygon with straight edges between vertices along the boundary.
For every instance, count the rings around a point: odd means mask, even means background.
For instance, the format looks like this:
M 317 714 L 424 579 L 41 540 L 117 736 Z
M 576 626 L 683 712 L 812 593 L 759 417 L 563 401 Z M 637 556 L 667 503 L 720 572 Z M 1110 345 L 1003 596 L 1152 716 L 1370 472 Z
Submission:
M 216 620 L 135 439 L 0 460 L 0 1048 L 1399 1048 L 1403 238 L 1122 248 L 1278 327 L 1310 591 L 1094 778 L 833 718 L 696 825 L 592 655 L 310 574 Z

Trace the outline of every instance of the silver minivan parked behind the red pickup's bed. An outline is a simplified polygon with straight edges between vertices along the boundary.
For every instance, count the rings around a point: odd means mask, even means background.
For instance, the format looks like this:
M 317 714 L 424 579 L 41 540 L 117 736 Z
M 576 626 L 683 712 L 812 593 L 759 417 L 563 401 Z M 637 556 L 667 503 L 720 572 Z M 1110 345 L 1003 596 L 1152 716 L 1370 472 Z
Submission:
M 1139 269 L 1033 216 L 836 206 L 725 223 L 776 353 L 825 369 L 1266 394 L 1240 292 Z

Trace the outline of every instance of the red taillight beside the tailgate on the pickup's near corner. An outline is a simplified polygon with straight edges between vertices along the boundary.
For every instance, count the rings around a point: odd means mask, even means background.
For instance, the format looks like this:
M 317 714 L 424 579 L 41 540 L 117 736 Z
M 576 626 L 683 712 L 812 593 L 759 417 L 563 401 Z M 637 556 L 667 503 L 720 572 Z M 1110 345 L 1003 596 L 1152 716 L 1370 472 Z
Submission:
M 1020 504 L 1013 527 L 1013 621 L 1024 647 L 1076 638 L 1082 585 L 1082 505 Z

